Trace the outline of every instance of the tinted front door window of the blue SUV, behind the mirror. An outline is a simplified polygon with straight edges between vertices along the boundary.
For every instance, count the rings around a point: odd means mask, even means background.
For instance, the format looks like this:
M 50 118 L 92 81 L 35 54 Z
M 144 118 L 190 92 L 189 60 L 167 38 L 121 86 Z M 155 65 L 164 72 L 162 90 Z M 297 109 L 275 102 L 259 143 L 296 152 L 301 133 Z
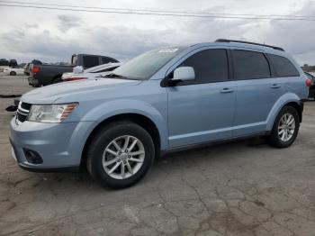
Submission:
M 229 79 L 229 64 L 226 50 L 202 50 L 185 59 L 179 67 L 192 67 L 195 73 L 193 84 L 220 82 Z

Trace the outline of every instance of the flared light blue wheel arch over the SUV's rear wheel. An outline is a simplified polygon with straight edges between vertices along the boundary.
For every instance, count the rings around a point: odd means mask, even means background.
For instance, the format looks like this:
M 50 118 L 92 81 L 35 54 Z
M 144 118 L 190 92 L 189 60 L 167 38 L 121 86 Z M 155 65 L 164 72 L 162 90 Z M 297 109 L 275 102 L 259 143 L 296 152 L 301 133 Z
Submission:
M 284 107 L 285 104 L 289 103 L 297 103 L 301 104 L 301 98 L 298 95 L 293 93 L 286 93 L 282 95 L 274 104 L 273 108 L 271 109 L 268 117 L 267 117 L 267 131 L 271 131 L 273 129 L 275 118 L 280 112 L 280 110 Z

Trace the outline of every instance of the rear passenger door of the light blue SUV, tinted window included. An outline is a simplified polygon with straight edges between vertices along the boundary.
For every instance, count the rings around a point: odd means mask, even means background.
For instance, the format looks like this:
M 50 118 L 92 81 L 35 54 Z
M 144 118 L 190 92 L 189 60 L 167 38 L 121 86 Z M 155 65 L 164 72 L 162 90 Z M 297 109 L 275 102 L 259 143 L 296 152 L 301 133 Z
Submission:
M 234 49 L 231 53 L 238 84 L 233 137 L 264 132 L 268 114 L 284 95 L 285 80 L 272 76 L 263 51 Z

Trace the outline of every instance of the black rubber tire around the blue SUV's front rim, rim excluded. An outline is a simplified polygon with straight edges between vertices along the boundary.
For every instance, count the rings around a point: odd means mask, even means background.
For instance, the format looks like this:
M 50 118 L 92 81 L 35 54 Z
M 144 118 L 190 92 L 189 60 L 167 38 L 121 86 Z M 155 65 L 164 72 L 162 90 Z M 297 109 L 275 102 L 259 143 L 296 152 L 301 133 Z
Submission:
M 103 168 L 103 151 L 114 139 L 131 135 L 142 142 L 145 150 L 145 158 L 142 166 L 133 176 L 117 179 L 111 177 Z M 106 125 L 94 135 L 87 149 L 86 168 L 96 182 L 103 186 L 122 188 L 132 186 L 144 177 L 151 168 L 155 159 L 155 147 L 148 132 L 136 123 L 115 122 Z

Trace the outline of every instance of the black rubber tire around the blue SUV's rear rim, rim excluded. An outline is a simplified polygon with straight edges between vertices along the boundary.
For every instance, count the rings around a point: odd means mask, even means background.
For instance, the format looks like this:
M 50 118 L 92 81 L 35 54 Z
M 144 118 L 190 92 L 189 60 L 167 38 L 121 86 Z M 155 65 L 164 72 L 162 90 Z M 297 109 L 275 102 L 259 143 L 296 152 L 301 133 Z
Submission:
M 278 133 L 278 127 L 279 127 L 280 120 L 282 119 L 282 117 L 286 113 L 293 115 L 294 122 L 295 122 L 295 129 L 293 132 L 293 136 L 288 141 L 282 141 L 280 138 L 280 135 Z M 299 113 L 296 111 L 296 109 L 293 106 L 290 106 L 290 105 L 284 106 L 281 109 L 281 111 L 278 113 L 278 115 L 275 119 L 273 130 L 271 131 L 269 137 L 267 138 L 267 141 L 271 146 L 274 146 L 276 148 L 280 148 L 280 149 L 288 148 L 295 141 L 295 139 L 298 135 L 298 132 L 299 132 L 299 128 L 300 128 Z

